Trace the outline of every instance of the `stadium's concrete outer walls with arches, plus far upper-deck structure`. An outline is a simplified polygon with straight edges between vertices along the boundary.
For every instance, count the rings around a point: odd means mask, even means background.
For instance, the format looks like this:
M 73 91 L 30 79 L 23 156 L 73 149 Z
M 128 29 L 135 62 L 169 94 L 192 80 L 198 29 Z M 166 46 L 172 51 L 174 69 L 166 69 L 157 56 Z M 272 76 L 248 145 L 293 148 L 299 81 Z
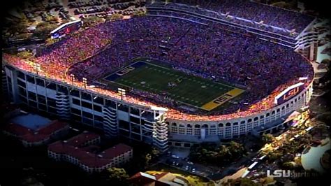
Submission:
M 166 10 L 165 10 L 166 9 Z M 175 16 L 182 10 L 161 6 L 148 7 L 148 16 Z M 169 15 L 168 13 L 171 13 Z M 228 24 L 214 17 L 198 13 L 185 13 L 203 20 Z M 182 18 L 184 19 L 184 18 Z M 185 18 L 187 19 L 187 18 Z M 229 24 L 230 27 L 237 27 Z M 305 34 L 298 34 L 293 41 L 283 40 L 283 36 L 265 33 L 261 30 L 260 39 L 266 39 L 285 45 L 284 47 L 302 53 L 309 60 L 316 58 L 317 37 L 311 29 L 312 23 L 305 29 Z M 240 26 L 244 29 L 244 26 Z M 253 31 L 252 31 L 253 33 Z M 254 34 L 254 33 L 253 33 Z M 287 44 L 286 44 L 287 43 Z M 4 90 L 14 103 L 24 103 L 41 113 L 51 113 L 66 120 L 75 120 L 89 127 L 101 129 L 106 136 L 125 136 L 136 141 L 155 145 L 161 151 L 169 146 L 191 147 L 194 143 L 217 142 L 251 134 L 253 131 L 270 132 L 284 124 L 284 120 L 295 110 L 307 106 L 312 94 L 312 82 L 290 99 L 253 115 L 240 116 L 231 120 L 194 121 L 182 118 L 172 119 L 167 115 L 167 108 L 141 106 L 116 99 L 105 94 L 93 92 L 84 87 L 51 80 L 37 73 L 24 71 L 6 63 L 2 81 Z

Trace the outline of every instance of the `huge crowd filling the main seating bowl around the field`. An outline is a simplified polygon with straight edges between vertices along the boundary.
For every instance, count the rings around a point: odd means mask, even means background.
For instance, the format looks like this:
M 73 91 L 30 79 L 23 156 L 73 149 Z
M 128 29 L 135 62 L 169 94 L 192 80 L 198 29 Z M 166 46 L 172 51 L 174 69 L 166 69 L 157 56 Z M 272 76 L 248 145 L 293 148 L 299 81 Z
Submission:
M 22 59 L 3 57 L 19 68 L 35 71 Z M 167 96 L 162 100 L 156 94 L 134 90 L 140 96 L 128 94 L 125 98 L 140 105 L 165 106 L 169 108 L 168 117 L 175 119 L 225 120 L 251 115 L 274 106 L 274 97 L 297 83 L 299 77 L 309 76 L 309 81 L 313 77 L 311 65 L 290 48 L 225 30 L 219 24 L 198 25 L 167 17 L 136 17 L 98 24 L 51 45 L 32 60 L 41 64 L 39 75 L 71 84 L 72 73 L 77 80 L 75 85 L 83 87 L 83 77 L 89 85 L 96 85 L 99 78 L 136 57 L 170 62 L 177 70 L 247 89 L 237 104 L 201 115 L 178 110 L 178 103 Z M 121 99 L 112 90 L 87 89 Z

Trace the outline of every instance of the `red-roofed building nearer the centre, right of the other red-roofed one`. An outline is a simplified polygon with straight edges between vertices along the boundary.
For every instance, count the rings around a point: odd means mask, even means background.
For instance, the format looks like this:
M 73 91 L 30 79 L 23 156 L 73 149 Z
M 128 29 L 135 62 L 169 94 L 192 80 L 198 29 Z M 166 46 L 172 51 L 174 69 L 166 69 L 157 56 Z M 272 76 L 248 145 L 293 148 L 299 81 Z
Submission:
M 100 152 L 98 134 L 84 131 L 67 141 L 57 141 L 48 146 L 48 156 L 55 161 L 64 161 L 79 166 L 88 173 L 101 172 L 112 166 L 121 166 L 133 157 L 130 146 L 119 143 Z

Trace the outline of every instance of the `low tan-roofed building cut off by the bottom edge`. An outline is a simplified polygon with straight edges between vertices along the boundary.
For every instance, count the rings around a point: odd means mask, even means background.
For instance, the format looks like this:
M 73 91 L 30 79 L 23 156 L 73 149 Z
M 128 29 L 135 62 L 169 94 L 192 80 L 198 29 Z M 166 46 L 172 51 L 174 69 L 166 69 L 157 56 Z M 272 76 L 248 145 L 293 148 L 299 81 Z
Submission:
M 186 180 L 177 178 L 172 173 L 163 172 L 156 175 L 150 175 L 148 173 L 136 173 L 135 175 L 128 178 L 128 181 L 132 185 L 187 185 Z

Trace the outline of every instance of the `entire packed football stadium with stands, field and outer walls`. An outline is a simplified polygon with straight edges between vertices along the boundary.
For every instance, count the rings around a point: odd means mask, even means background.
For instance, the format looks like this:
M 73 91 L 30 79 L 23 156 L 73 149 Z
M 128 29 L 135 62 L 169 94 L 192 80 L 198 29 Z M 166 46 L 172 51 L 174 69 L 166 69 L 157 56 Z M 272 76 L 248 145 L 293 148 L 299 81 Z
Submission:
M 3 54 L 10 99 L 163 152 L 279 129 L 309 103 L 316 18 L 204 2 L 147 1 L 145 15 L 66 33 L 31 60 Z

